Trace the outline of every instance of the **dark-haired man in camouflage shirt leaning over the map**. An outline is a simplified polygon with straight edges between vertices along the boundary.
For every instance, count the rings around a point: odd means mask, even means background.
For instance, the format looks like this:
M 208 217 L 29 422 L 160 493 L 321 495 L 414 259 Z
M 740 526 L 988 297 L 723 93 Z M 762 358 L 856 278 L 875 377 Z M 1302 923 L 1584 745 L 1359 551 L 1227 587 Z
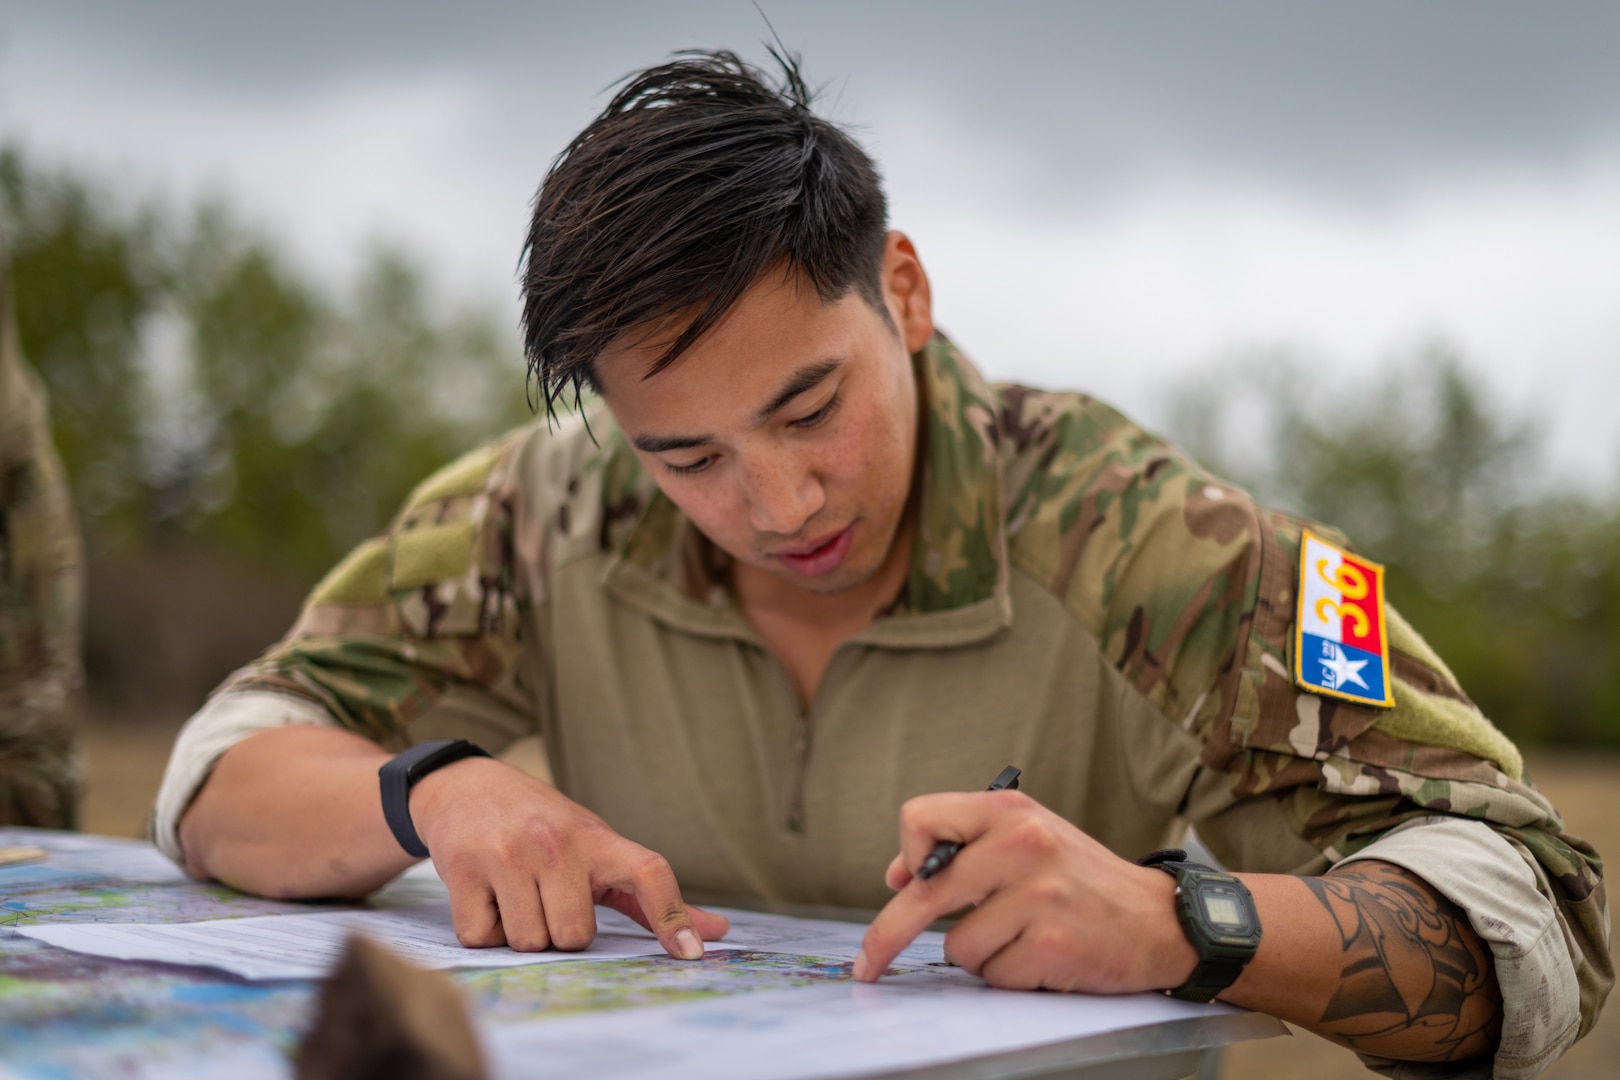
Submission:
M 687 58 L 559 159 L 528 348 L 548 400 L 604 405 L 429 478 L 327 575 L 181 733 L 162 848 L 366 892 L 411 861 L 390 751 L 538 732 L 554 787 L 467 758 L 410 790 L 463 944 L 582 947 L 596 902 L 690 959 L 724 920 L 679 878 L 886 905 L 857 978 L 974 907 L 962 967 L 1126 993 L 1196 963 L 1129 861 L 1191 823 L 1265 929 L 1225 999 L 1369 1061 L 1545 1067 L 1612 983 L 1607 905 L 1513 745 L 1395 612 L 1392 708 L 1298 685 L 1302 523 L 1090 398 L 988 385 L 804 99 Z M 1024 792 L 936 793 L 1006 763 Z M 914 879 L 938 839 L 961 858 Z

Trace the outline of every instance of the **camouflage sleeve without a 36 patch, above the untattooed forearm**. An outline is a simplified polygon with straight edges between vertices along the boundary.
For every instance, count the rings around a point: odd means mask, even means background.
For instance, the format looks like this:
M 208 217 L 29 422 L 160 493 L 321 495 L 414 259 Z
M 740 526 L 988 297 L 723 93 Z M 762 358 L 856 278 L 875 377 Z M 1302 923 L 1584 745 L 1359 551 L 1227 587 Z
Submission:
M 424 481 L 222 693 L 313 701 L 390 750 L 462 737 L 499 753 L 533 732 L 536 688 L 520 659 L 539 576 L 517 554 L 530 437 L 515 432 Z

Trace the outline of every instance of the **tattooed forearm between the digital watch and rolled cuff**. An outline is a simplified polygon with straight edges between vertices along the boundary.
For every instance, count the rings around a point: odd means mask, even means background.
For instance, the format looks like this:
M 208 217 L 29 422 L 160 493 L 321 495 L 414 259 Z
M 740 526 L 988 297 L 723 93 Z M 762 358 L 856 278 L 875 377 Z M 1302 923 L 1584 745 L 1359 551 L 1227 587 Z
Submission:
M 1322 878 L 1243 878 L 1264 938 L 1225 1001 L 1383 1057 L 1495 1049 L 1502 993 L 1490 950 L 1426 881 L 1375 860 Z

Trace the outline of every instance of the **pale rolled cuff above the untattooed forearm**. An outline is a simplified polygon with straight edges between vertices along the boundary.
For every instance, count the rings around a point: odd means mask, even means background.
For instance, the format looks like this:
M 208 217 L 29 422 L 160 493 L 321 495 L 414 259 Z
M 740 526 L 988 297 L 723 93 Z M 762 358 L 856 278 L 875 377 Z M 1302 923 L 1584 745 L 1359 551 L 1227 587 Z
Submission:
M 202 782 L 214 772 L 220 756 L 254 732 L 287 724 L 321 724 L 337 727 L 332 716 L 303 698 L 262 690 L 224 693 L 185 722 L 164 769 L 152 808 L 152 842 L 181 868 L 186 853 L 180 847 L 180 818 L 191 806 Z

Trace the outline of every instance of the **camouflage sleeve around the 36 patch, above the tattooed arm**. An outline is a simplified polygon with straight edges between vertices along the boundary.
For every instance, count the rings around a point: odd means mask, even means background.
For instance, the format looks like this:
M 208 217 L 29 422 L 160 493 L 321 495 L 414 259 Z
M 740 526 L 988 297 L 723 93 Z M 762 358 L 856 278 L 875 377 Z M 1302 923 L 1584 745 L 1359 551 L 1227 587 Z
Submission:
M 1555 913 L 1584 1035 L 1614 984 L 1597 852 L 1565 832 L 1513 743 L 1393 609 L 1385 609 L 1393 708 L 1299 690 L 1291 672 L 1302 525 L 1268 512 L 1256 520 L 1257 542 L 1241 575 L 1239 646 L 1221 680 L 1231 706 L 1200 725 L 1202 764 L 1230 806 L 1199 823 L 1200 836 L 1234 866 L 1320 873 L 1408 823 L 1448 816 L 1489 826 Z M 1265 852 L 1244 839 L 1243 829 L 1260 818 L 1280 818 L 1317 858 L 1298 865 L 1299 848 Z

